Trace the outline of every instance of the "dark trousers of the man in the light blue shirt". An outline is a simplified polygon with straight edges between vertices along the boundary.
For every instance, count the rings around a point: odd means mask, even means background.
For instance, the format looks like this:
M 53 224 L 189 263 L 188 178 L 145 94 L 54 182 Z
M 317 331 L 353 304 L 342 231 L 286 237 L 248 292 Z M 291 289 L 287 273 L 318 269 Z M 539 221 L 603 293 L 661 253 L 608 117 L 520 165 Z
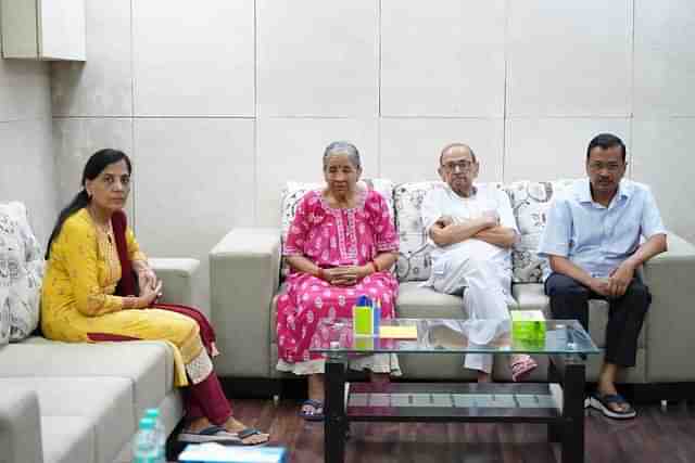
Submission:
M 555 319 L 574 319 L 589 332 L 589 299 L 604 299 L 609 304 L 606 326 L 605 362 L 618 366 L 634 366 L 637 353 L 637 336 L 642 330 L 652 295 L 635 275 L 626 294 L 607 299 L 578 281 L 552 273 L 545 281 L 545 294 L 551 298 L 551 311 Z

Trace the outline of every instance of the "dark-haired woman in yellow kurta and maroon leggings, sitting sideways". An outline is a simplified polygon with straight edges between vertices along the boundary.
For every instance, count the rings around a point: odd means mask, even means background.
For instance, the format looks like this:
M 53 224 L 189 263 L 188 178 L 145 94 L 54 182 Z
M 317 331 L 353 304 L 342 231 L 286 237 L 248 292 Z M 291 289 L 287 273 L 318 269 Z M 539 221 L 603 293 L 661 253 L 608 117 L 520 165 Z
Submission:
M 152 308 L 162 283 L 140 252 L 132 230 L 115 227 L 121 223 L 116 217 L 125 218 L 130 173 L 130 159 L 116 150 L 101 150 L 87 162 L 84 189 L 61 213 L 47 247 L 43 334 L 74 343 L 166 340 L 175 352 L 176 385 L 189 385 L 186 412 L 190 423 L 179 439 L 264 443 L 267 434 L 232 417 L 210 359 L 214 345 L 208 352 L 199 323 L 186 314 Z M 126 246 L 122 249 L 127 248 L 123 254 L 138 274 L 138 296 L 117 295 L 123 282 L 116 242 L 123 240 L 124 232 Z

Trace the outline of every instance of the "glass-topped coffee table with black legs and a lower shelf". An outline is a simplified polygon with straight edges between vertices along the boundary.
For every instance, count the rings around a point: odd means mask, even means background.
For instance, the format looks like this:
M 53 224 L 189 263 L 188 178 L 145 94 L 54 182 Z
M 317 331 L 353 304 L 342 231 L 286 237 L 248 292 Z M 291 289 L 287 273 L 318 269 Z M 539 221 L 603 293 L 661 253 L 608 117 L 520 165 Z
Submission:
M 544 423 L 563 463 L 583 462 L 584 362 L 599 350 L 576 320 L 539 323 L 539 335 L 525 340 L 514 338 L 510 321 L 382 320 L 415 326 L 417 337 L 397 339 L 354 336 L 350 319 L 320 320 L 311 350 L 326 356 L 325 461 L 343 463 L 351 422 L 382 421 Z M 353 383 L 345 396 L 348 362 L 374 353 L 547 356 L 548 383 Z

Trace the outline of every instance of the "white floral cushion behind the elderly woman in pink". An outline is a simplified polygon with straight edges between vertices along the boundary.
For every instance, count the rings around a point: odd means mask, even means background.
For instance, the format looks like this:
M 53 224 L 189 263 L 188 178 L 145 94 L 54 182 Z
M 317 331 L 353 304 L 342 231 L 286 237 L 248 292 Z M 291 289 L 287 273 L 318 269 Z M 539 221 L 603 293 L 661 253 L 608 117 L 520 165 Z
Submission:
M 367 188 L 369 190 L 375 190 L 383 196 L 389 205 L 389 210 L 391 211 L 391 220 L 394 219 L 394 209 L 393 209 L 393 182 L 388 179 L 362 179 L 358 184 L 363 188 Z M 300 200 L 306 194 L 306 192 L 312 190 L 320 190 L 325 188 L 326 184 L 324 182 L 312 182 L 312 183 L 300 183 L 300 182 L 287 182 L 287 185 L 282 190 L 281 193 L 281 240 L 285 243 L 287 239 L 287 232 L 292 224 L 292 220 L 294 220 L 294 214 L 296 211 L 296 206 Z M 280 278 L 285 279 L 285 276 L 289 273 L 289 268 L 282 259 L 282 265 L 280 266 Z

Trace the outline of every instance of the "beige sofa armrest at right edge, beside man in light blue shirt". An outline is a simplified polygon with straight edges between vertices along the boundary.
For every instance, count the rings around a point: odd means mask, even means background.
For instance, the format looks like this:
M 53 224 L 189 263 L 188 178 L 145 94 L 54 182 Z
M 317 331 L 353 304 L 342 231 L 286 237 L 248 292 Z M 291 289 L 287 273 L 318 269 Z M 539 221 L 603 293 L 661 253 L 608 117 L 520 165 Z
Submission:
M 647 382 L 694 381 L 695 246 L 669 233 L 668 250 L 644 265 L 653 296 L 647 314 Z

